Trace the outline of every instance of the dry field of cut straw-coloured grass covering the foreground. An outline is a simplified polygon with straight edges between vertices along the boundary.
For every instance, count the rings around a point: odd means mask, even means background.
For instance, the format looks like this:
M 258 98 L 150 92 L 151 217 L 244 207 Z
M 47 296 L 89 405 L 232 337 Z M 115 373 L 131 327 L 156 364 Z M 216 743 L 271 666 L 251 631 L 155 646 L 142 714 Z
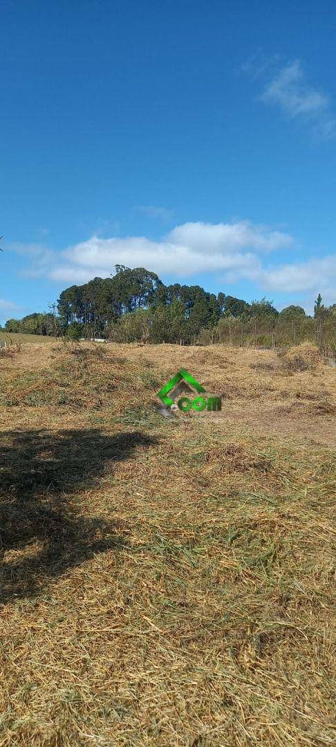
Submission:
M 336 372 L 298 361 L 0 357 L 1 746 L 336 744 Z M 162 417 L 181 367 L 221 412 Z

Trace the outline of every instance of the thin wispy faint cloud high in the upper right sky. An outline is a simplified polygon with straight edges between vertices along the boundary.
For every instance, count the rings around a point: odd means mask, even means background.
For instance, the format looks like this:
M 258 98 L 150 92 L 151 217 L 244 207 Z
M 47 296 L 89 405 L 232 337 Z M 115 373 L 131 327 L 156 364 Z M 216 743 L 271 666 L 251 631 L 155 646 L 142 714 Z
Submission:
M 264 63 L 261 69 L 258 62 L 249 63 L 243 69 L 250 74 L 257 69 L 258 75 L 268 76 L 260 96 L 265 104 L 278 106 L 285 116 L 308 125 L 318 137 L 331 140 L 336 136 L 332 102 L 326 93 L 308 81 L 301 61 L 286 63 L 281 68 L 278 65 L 276 71 L 274 60 L 272 65 Z

